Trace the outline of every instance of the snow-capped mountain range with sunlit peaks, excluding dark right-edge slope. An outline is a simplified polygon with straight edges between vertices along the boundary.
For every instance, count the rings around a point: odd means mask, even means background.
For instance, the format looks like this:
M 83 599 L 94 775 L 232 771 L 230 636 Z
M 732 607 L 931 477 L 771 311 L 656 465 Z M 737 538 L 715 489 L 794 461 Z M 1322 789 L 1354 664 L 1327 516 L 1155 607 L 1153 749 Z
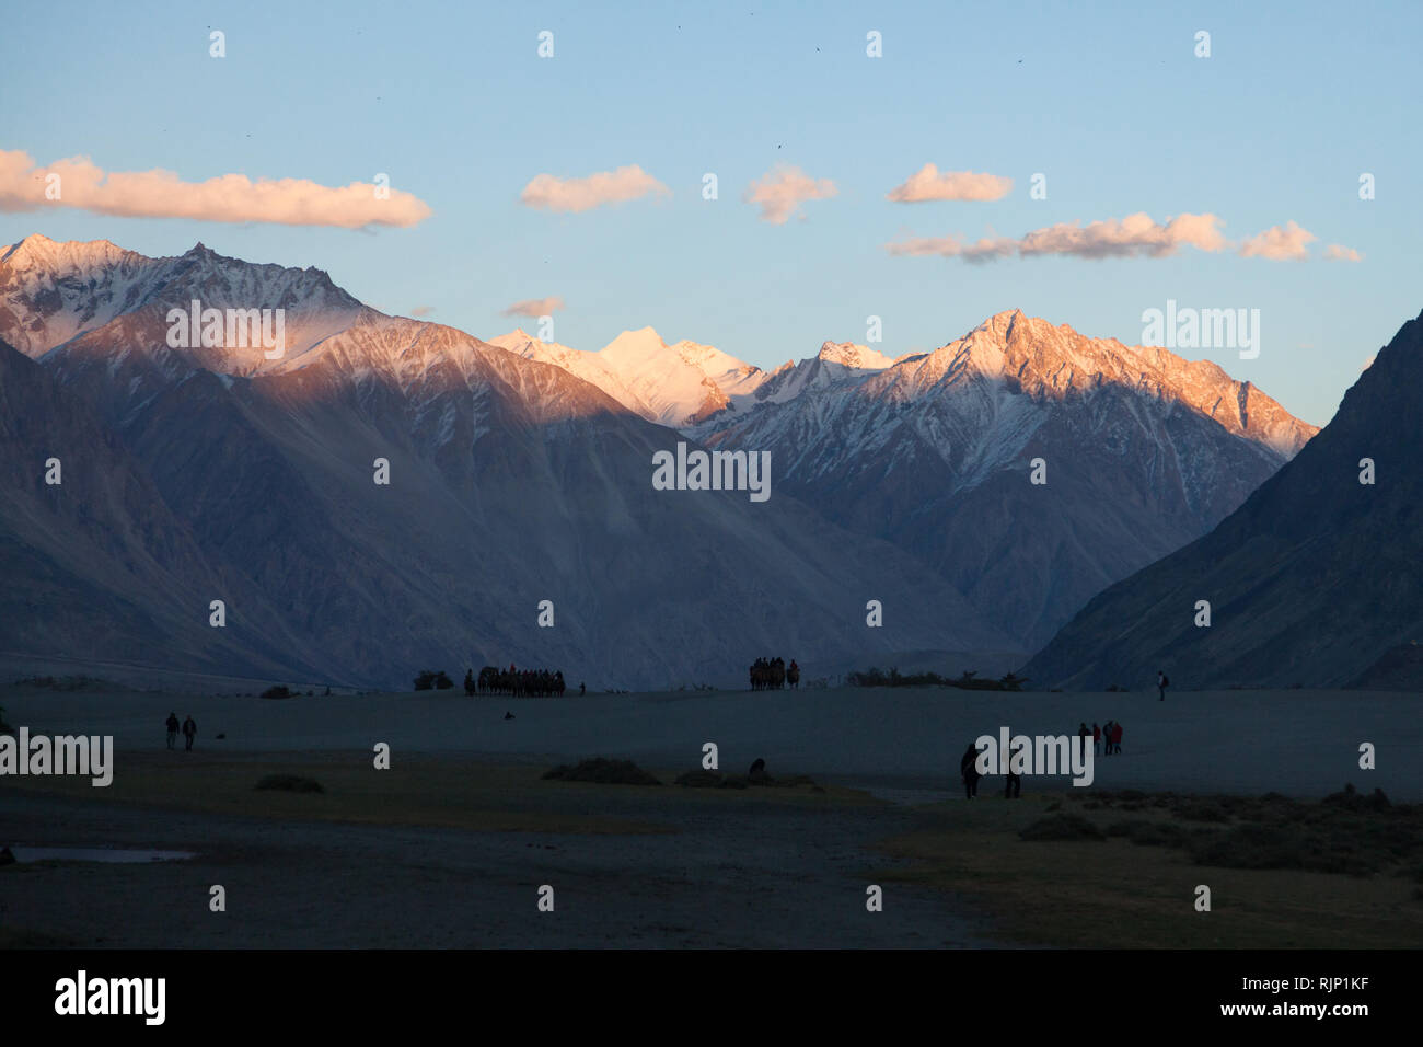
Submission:
M 194 299 L 283 309 L 285 353 L 169 346 Z M 27 236 L 0 252 L 0 652 L 275 679 L 972 667 L 1208 533 L 1315 432 L 1211 363 L 1020 312 L 766 372 L 646 328 L 599 352 L 484 342 L 203 245 Z M 679 442 L 771 452 L 773 497 L 653 490 Z

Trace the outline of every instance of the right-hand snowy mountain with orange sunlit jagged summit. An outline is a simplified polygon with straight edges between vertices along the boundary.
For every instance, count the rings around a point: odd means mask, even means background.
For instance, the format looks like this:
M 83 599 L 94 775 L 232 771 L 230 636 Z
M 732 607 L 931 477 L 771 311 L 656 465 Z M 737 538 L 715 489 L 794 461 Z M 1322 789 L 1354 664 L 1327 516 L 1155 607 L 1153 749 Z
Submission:
M 1016 311 L 889 366 L 831 349 L 689 432 L 768 449 L 784 490 L 921 560 L 1027 647 L 1208 531 L 1315 432 L 1214 363 Z

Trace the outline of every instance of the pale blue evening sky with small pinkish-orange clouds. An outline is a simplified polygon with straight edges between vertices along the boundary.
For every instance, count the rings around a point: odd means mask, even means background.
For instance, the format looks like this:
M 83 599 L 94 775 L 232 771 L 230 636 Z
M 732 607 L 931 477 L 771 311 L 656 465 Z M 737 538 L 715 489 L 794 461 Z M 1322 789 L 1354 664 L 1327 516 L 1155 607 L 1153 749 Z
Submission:
M 1412 0 L 30 6 L 0 244 L 201 241 L 480 338 L 551 309 L 763 368 L 1258 309 L 1257 356 L 1177 352 L 1323 424 L 1423 309 L 1420 37 Z

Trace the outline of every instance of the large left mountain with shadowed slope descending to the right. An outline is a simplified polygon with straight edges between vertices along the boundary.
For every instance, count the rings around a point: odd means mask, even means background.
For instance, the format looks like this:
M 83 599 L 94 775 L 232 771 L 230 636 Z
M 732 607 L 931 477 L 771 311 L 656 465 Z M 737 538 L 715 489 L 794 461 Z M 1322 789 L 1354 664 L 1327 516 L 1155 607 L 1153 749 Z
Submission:
M 83 641 L 94 658 L 367 685 L 512 661 L 667 687 L 739 682 L 758 654 L 1013 650 L 912 557 L 774 486 L 766 503 L 655 490 L 653 453 L 684 437 L 562 368 L 361 308 L 319 271 L 78 245 L 85 269 L 65 246 L 50 269 L 24 245 L 0 265 L 7 330 L 40 358 L 9 366 L 48 397 L 16 383 L 0 433 L 0 547 L 24 604 L 0 651 Z M 166 312 L 192 298 L 286 309 L 287 356 L 169 346 Z M 64 486 L 37 487 L 61 444 Z

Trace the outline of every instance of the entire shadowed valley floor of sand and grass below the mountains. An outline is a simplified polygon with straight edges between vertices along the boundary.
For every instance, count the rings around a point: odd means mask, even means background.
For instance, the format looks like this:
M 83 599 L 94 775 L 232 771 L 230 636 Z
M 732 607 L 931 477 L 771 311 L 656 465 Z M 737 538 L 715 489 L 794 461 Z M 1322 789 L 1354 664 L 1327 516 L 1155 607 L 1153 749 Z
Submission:
M 0 944 L 134 947 L 1416 947 L 1414 695 L 824 691 L 527 701 L 10 694 L 6 718 L 112 734 L 114 783 L 0 779 L 0 845 L 195 852 L 0 868 Z M 1111 707 L 1109 709 L 1109 705 Z M 203 726 L 168 752 L 169 708 Z M 517 718 L 504 721 L 505 708 Z M 976 734 L 1128 724 L 1091 788 L 986 779 Z M 1089 722 L 1093 717 L 1089 717 Z M 222 731 L 225 739 L 212 735 Z M 157 735 L 157 736 L 155 736 Z M 373 766 L 377 741 L 391 769 Z M 719 741 L 794 786 L 672 785 Z M 1358 768 L 1358 744 L 1379 769 Z M 753 748 L 754 746 L 754 748 Z M 657 786 L 544 781 L 633 758 Z M 323 792 L 256 791 L 269 773 Z M 1353 798 L 1321 803 L 1346 781 Z M 1370 799 L 1375 788 L 1389 802 Z M 1284 796 L 1258 801 L 1262 793 Z M 1212 793 L 1222 793 L 1212 796 Z M 1025 839 L 1025 835 L 1027 836 Z M 209 910 L 209 890 L 226 912 Z M 539 912 L 539 887 L 554 912 Z M 865 907 L 867 887 L 884 893 Z M 1200 887 L 1211 910 L 1200 912 Z

